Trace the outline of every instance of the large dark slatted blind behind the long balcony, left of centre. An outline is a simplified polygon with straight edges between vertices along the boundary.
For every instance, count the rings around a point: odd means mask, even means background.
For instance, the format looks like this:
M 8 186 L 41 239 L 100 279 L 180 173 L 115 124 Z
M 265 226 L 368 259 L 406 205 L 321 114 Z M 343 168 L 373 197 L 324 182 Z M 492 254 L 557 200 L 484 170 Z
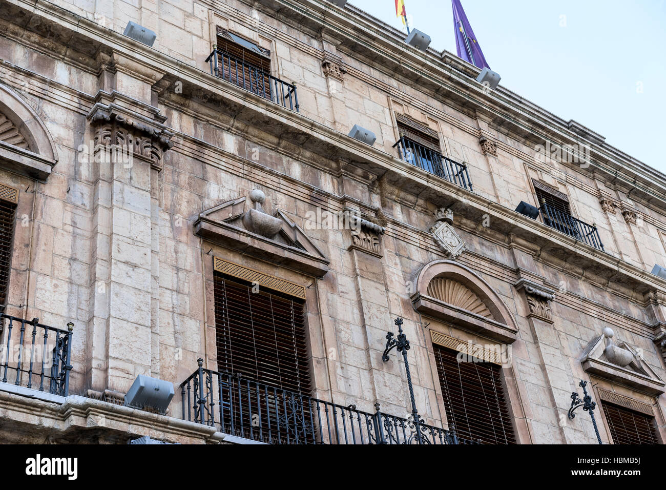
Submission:
M 304 301 L 216 272 L 218 370 L 310 395 Z

